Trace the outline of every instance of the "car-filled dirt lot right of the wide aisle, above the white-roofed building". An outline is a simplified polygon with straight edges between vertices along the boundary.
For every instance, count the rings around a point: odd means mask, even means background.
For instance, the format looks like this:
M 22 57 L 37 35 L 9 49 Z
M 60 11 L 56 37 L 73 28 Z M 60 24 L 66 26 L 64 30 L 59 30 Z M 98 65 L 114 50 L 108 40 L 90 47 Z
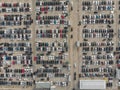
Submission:
M 118 1 L 82 0 L 79 8 L 79 80 L 105 80 L 106 90 L 118 90 Z M 76 52 L 77 53 L 77 52 Z M 119 56 L 117 56 L 118 58 Z M 75 87 L 77 89 L 77 87 Z

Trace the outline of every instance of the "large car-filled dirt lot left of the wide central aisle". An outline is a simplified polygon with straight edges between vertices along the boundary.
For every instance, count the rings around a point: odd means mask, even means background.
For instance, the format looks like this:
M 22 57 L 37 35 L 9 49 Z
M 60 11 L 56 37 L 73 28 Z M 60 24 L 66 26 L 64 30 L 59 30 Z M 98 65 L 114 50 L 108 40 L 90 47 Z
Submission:
M 34 88 L 50 82 L 67 89 L 69 1 L 0 1 L 0 87 Z

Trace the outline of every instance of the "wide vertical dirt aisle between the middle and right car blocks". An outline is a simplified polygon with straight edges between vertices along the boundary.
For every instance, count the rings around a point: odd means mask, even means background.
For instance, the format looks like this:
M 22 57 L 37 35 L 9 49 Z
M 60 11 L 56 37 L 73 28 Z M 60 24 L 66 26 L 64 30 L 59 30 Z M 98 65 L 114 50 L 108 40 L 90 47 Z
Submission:
M 78 50 L 75 47 L 75 42 L 76 39 L 79 37 L 78 36 L 78 0 L 73 0 L 71 1 L 73 2 L 73 11 L 71 12 L 71 18 L 70 21 L 72 23 L 71 27 L 73 28 L 72 34 L 73 34 L 73 39 L 71 39 L 70 41 L 70 56 L 71 56 L 71 78 L 72 78 L 72 82 L 71 82 L 71 87 L 77 89 L 77 85 L 78 85 L 78 68 L 79 68 L 79 63 L 78 63 Z M 76 64 L 76 66 L 75 66 Z M 74 73 L 76 73 L 76 76 L 74 76 Z M 76 77 L 76 79 L 74 79 L 74 77 Z M 72 90 L 72 89 L 71 89 Z

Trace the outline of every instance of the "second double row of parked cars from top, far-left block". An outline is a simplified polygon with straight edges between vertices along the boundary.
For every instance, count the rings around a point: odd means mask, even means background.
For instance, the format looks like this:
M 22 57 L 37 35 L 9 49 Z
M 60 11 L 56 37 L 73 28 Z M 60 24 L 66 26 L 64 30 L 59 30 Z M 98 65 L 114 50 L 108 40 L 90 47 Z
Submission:
M 30 14 L 27 15 L 3 15 L 0 16 L 0 25 L 1 26 L 21 26 L 21 25 L 31 25 L 33 19 Z

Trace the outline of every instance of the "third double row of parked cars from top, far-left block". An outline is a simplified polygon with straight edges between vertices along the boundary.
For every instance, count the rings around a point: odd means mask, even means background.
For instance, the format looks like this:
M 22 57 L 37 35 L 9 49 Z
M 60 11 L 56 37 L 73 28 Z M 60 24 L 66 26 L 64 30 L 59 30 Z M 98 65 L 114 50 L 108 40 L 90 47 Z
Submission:
M 10 39 L 10 40 L 30 40 L 31 30 L 27 28 L 14 28 L 14 29 L 1 29 L 0 31 L 1 39 Z

